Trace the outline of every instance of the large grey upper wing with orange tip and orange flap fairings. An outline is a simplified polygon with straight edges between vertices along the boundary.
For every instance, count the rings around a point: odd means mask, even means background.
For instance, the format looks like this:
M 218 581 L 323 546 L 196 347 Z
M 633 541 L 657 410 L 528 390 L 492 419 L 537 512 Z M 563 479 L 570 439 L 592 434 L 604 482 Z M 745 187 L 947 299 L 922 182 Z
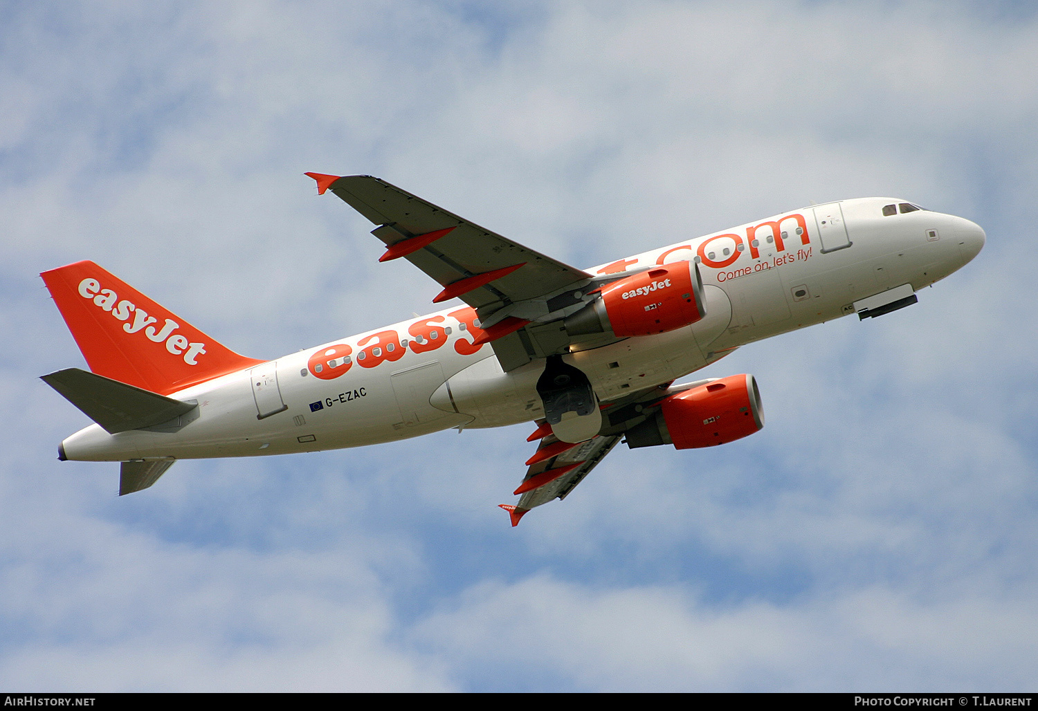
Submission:
M 475 309 L 484 340 L 492 344 L 506 371 L 566 352 L 569 337 L 556 317 L 583 304 L 573 292 L 579 294 L 595 279 L 592 274 L 378 177 L 306 174 L 318 182 L 320 193 L 331 190 L 379 225 L 372 234 L 386 244 L 381 262 L 406 258 L 443 286 L 434 303 L 457 297 Z

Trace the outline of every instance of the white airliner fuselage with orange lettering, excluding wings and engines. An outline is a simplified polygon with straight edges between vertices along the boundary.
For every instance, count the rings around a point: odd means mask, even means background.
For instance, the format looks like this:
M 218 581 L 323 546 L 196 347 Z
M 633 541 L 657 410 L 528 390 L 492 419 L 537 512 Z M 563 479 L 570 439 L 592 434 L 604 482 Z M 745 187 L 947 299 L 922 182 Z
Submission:
M 695 261 L 706 316 L 665 333 L 571 347 L 563 358 L 607 404 L 745 344 L 853 313 L 870 297 L 897 288 L 911 294 L 980 251 L 984 233 L 963 218 L 883 214 L 884 206 L 903 203 L 861 198 L 804 208 L 590 269 L 620 275 Z M 65 439 L 62 452 L 82 461 L 248 457 L 543 417 L 536 386 L 544 359 L 502 372 L 490 344 L 473 345 L 474 318 L 458 305 L 224 375 L 169 393 L 198 403 L 197 416 L 175 431 L 113 435 L 91 425 Z M 145 336 L 155 357 L 200 357 L 186 338 L 162 340 L 162 326 Z

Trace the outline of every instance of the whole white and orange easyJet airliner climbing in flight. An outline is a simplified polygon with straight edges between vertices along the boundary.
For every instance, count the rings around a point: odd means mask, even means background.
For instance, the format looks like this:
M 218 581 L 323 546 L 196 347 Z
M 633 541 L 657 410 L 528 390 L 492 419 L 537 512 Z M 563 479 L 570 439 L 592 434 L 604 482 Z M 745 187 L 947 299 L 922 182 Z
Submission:
M 576 269 L 371 175 L 306 173 L 376 226 L 441 311 L 277 358 L 238 355 L 93 264 L 42 274 L 90 371 L 43 379 L 91 425 L 58 458 L 121 462 L 119 494 L 177 459 L 360 446 L 531 422 L 512 525 L 619 442 L 714 446 L 764 426 L 750 375 L 675 384 L 754 340 L 916 303 L 984 230 L 900 198 L 812 206 Z

